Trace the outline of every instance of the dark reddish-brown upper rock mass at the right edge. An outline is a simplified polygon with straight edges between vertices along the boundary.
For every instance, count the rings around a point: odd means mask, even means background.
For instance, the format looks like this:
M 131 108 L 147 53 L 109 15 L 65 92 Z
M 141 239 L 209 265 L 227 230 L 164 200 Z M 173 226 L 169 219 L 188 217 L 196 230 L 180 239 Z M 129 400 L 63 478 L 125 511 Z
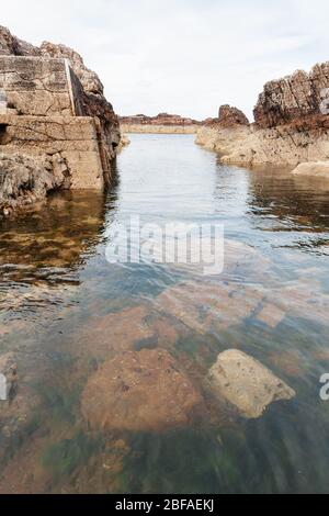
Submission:
M 264 86 L 254 108 L 254 121 L 263 128 L 291 123 L 327 110 L 329 63 L 316 65 L 309 74 L 298 70 Z

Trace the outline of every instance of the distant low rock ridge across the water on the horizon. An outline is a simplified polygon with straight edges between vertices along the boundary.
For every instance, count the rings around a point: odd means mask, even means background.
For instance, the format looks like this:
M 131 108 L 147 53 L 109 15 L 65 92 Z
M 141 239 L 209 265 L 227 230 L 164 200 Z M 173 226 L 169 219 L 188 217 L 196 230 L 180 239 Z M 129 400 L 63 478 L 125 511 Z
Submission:
M 159 113 L 157 116 L 136 114 L 120 116 L 122 131 L 125 133 L 196 133 L 202 122 L 178 114 Z

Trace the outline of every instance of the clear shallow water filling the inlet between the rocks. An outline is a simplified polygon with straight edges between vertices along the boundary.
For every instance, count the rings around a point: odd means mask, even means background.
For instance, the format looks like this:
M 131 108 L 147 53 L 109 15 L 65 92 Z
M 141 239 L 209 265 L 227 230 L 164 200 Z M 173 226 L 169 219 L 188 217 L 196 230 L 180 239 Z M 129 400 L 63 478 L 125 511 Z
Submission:
M 54 197 L 1 223 L 0 356 L 14 355 L 19 389 L 0 404 L 0 492 L 328 492 L 329 187 L 222 166 L 190 135 L 133 135 L 117 168 L 105 197 Z M 111 232 L 132 214 L 224 223 L 223 274 L 110 265 Z M 81 399 L 98 367 L 155 347 L 196 384 L 240 348 L 297 396 L 257 420 L 92 431 Z

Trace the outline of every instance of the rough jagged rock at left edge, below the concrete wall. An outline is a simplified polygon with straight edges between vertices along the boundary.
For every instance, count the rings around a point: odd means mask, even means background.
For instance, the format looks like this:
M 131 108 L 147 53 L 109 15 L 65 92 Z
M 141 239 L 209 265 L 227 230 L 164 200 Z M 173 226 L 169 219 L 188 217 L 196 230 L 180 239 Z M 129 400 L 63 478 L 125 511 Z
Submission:
M 58 168 L 59 167 L 59 168 Z M 12 209 L 43 200 L 49 190 L 65 184 L 66 169 L 46 158 L 0 154 L 0 210 L 9 215 Z

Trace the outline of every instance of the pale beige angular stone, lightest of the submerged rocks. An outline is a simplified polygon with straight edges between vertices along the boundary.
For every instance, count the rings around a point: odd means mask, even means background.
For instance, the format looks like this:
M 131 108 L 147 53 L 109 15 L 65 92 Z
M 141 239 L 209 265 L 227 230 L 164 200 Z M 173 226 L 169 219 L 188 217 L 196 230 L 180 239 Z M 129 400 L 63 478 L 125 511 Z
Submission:
M 258 360 L 237 349 L 224 351 L 208 373 L 208 385 L 241 416 L 262 416 L 273 402 L 292 400 L 296 393 Z

